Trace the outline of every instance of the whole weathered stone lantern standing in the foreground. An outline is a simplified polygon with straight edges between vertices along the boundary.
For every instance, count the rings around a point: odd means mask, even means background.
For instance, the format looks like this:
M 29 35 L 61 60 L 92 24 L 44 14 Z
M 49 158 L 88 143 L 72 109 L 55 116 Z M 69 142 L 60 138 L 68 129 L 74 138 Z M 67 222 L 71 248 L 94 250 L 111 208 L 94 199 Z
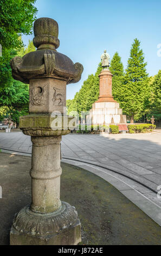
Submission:
M 70 131 L 71 118 L 63 111 L 66 84 L 80 80 L 83 66 L 56 51 L 60 42 L 55 20 L 37 19 L 34 35 L 37 50 L 10 63 L 15 80 L 30 84 L 29 115 L 20 118 L 20 128 L 33 142 L 31 205 L 15 215 L 10 245 L 76 245 L 81 241 L 78 214 L 60 200 L 60 142 Z M 59 129 L 53 126 L 53 112 L 59 113 L 62 121 Z

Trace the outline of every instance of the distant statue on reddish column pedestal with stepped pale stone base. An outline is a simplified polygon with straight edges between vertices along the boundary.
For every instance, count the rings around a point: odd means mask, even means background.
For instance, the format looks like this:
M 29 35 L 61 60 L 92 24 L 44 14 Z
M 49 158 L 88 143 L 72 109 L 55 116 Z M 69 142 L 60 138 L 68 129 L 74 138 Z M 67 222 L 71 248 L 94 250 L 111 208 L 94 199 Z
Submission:
M 112 96 L 112 74 L 110 66 L 110 55 L 104 51 L 101 55 L 102 71 L 100 72 L 99 99 L 93 103 L 92 109 L 87 115 L 87 124 L 110 125 L 126 124 L 126 115 L 123 115 L 119 103 Z

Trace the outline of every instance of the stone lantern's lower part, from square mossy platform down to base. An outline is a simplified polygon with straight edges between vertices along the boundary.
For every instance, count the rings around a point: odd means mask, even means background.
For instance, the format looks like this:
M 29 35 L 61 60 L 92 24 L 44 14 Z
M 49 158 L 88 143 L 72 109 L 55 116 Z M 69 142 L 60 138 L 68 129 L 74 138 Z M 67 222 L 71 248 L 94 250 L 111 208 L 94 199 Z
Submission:
M 69 133 L 52 127 L 53 122 L 67 125 L 71 118 L 49 114 L 20 118 L 20 127 L 33 142 L 30 170 L 32 202 L 15 215 L 10 245 L 76 245 L 81 241 L 81 225 L 73 206 L 60 200 L 60 142 Z M 54 123 L 55 124 L 55 123 Z M 28 126 L 28 127 L 27 127 Z M 55 129 L 55 130 L 54 130 Z

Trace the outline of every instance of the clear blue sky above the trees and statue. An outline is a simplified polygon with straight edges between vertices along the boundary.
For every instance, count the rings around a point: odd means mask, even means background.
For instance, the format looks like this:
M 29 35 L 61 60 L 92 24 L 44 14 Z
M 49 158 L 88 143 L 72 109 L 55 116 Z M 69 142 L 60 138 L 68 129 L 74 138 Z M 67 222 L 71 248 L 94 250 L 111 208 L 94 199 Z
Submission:
M 57 51 L 84 67 L 81 81 L 67 86 L 67 99 L 73 99 L 88 75 L 95 74 L 104 50 L 111 58 L 118 51 L 126 68 L 134 38 L 141 41 L 149 75 L 161 69 L 161 57 L 157 56 L 160 0 L 37 0 L 36 7 L 37 18 L 50 17 L 59 24 Z M 22 38 L 27 45 L 33 35 Z

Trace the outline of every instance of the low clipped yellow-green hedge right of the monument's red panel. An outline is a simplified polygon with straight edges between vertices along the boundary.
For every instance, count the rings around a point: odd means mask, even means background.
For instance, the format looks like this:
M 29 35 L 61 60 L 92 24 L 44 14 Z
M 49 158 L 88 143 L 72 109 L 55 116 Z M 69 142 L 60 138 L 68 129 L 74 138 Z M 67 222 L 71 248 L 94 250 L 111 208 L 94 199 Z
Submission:
M 153 124 L 137 124 L 137 125 L 127 125 L 129 133 L 138 132 L 149 132 L 156 129 L 156 125 Z

